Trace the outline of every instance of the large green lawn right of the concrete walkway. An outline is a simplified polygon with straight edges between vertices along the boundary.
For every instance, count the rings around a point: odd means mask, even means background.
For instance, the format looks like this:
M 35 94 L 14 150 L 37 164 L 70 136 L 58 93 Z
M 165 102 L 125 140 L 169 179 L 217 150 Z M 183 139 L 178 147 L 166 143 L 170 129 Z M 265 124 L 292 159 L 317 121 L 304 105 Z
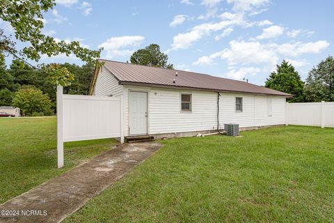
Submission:
M 334 222 L 334 128 L 164 147 L 65 222 Z

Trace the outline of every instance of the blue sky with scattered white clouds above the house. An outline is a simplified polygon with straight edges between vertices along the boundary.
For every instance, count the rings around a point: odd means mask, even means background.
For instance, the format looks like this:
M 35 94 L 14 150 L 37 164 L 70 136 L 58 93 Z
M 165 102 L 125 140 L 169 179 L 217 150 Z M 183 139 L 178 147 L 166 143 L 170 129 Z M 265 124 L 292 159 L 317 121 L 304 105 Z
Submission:
M 129 61 L 157 43 L 179 70 L 264 85 L 283 59 L 301 75 L 334 49 L 332 0 L 56 0 L 43 33 L 103 47 L 102 59 Z M 5 33 L 13 32 L 0 21 Z M 22 47 L 18 43 L 18 47 Z M 82 64 L 74 56 L 40 63 Z

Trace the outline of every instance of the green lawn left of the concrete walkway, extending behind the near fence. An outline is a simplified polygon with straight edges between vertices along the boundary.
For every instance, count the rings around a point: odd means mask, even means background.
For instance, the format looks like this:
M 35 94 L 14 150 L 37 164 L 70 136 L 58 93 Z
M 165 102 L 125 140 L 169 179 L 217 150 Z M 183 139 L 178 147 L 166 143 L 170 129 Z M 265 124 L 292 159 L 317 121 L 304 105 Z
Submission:
M 0 203 L 109 150 L 114 139 L 65 143 L 57 169 L 56 118 L 0 118 Z

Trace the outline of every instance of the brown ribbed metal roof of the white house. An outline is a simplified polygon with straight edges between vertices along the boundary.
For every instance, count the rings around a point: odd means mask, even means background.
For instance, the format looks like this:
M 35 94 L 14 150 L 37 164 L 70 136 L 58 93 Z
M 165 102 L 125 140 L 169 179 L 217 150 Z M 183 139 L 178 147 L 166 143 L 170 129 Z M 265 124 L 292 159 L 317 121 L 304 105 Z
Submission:
M 205 91 L 281 95 L 285 97 L 292 96 L 288 93 L 267 89 L 255 84 L 196 72 L 139 66 L 132 63 L 107 61 L 103 59 L 100 59 L 100 61 L 104 62 L 104 66 L 118 79 L 120 84 L 159 86 L 168 89 L 198 89 Z M 173 82 L 174 79 L 175 83 Z

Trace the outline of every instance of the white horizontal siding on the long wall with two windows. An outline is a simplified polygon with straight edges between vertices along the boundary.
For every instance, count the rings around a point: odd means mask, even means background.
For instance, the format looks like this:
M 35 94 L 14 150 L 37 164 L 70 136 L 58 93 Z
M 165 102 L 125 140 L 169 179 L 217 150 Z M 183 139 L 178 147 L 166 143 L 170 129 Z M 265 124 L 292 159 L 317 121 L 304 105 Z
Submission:
M 216 92 L 191 91 L 191 112 L 180 112 L 181 90 L 125 86 L 125 135 L 128 135 L 129 90 L 148 92 L 148 134 L 216 130 Z M 235 98 L 242 97 L 243 112 L 235 111 Z M 221 93 L 219 124 L 238 123 L 240 128 L 285 124 L 285 98 L 272 96 L 272 116 L 267 114 L 267 96 Z

